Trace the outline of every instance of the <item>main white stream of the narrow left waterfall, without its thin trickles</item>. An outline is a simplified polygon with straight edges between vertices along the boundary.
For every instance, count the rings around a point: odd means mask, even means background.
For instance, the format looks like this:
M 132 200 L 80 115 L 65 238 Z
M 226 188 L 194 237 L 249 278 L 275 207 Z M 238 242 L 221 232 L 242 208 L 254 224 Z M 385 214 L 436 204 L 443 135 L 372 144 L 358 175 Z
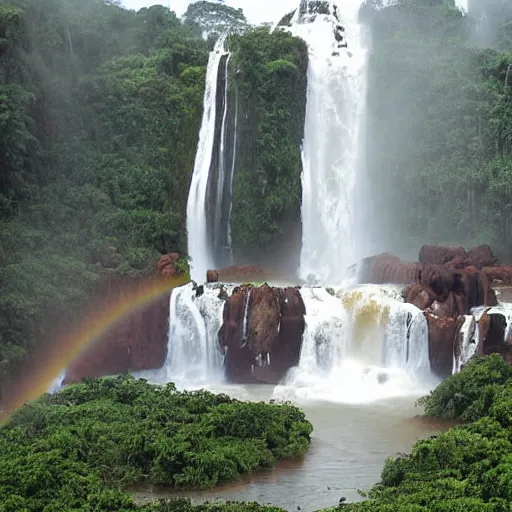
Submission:
M 206 271 L 215 266 L 212 247 L 207 236 L 206 192 L 215 138 L 217 77 L 220 60 L 227 53 L 224 43 L 225 38 L 219 38 L 208 61 L 203 120 L 187 201 L 188 254 L 192 260 L 190 274 L 192 279 L 198 282 L 203 282 Z

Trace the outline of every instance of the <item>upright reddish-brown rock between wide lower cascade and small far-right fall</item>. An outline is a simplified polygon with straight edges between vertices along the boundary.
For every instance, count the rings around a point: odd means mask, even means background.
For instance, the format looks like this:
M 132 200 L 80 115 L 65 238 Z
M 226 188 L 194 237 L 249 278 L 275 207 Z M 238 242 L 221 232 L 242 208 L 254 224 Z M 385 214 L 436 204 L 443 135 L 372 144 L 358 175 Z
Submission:
M 428 324 L 428 351 L 430 368 L 438 377 L 446 378 L 452 373 L 454 343 L 460 323 L 459 318 L 439 318 L 425 313 Z

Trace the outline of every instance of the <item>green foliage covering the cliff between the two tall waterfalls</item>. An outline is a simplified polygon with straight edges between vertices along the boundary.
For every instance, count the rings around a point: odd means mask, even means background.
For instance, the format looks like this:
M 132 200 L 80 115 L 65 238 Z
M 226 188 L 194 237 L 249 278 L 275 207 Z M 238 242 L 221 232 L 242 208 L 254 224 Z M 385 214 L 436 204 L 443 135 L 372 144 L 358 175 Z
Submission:
M 231 233 L 239 252 L 265 254 L 300 223 L 308 50 L 263 28 L 233 36 L 230 48 L 239 112 Z

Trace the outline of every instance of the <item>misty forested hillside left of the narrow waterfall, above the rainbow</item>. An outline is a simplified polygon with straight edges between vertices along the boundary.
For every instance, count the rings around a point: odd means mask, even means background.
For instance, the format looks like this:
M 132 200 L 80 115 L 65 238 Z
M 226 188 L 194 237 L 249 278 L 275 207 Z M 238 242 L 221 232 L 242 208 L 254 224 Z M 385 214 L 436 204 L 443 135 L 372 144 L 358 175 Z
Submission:
M 206 42 L 164 7 L 0 1 L 0 384 L 95 283 L 186 253 Z

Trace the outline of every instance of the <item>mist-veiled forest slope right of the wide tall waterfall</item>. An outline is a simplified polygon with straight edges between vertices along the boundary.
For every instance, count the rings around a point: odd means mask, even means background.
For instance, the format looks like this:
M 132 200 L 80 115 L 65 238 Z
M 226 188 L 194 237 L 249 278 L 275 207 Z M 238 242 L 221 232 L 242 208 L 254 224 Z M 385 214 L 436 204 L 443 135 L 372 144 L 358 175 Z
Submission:
M 486 49 L 482 14 L 500 19 Z M 361 15 L 378 242 L 410 257 L 423 243 L 488 243 L 509 259 L 510 2 L 471 2 L 464 15 L 454 0 L 368 0 Z

